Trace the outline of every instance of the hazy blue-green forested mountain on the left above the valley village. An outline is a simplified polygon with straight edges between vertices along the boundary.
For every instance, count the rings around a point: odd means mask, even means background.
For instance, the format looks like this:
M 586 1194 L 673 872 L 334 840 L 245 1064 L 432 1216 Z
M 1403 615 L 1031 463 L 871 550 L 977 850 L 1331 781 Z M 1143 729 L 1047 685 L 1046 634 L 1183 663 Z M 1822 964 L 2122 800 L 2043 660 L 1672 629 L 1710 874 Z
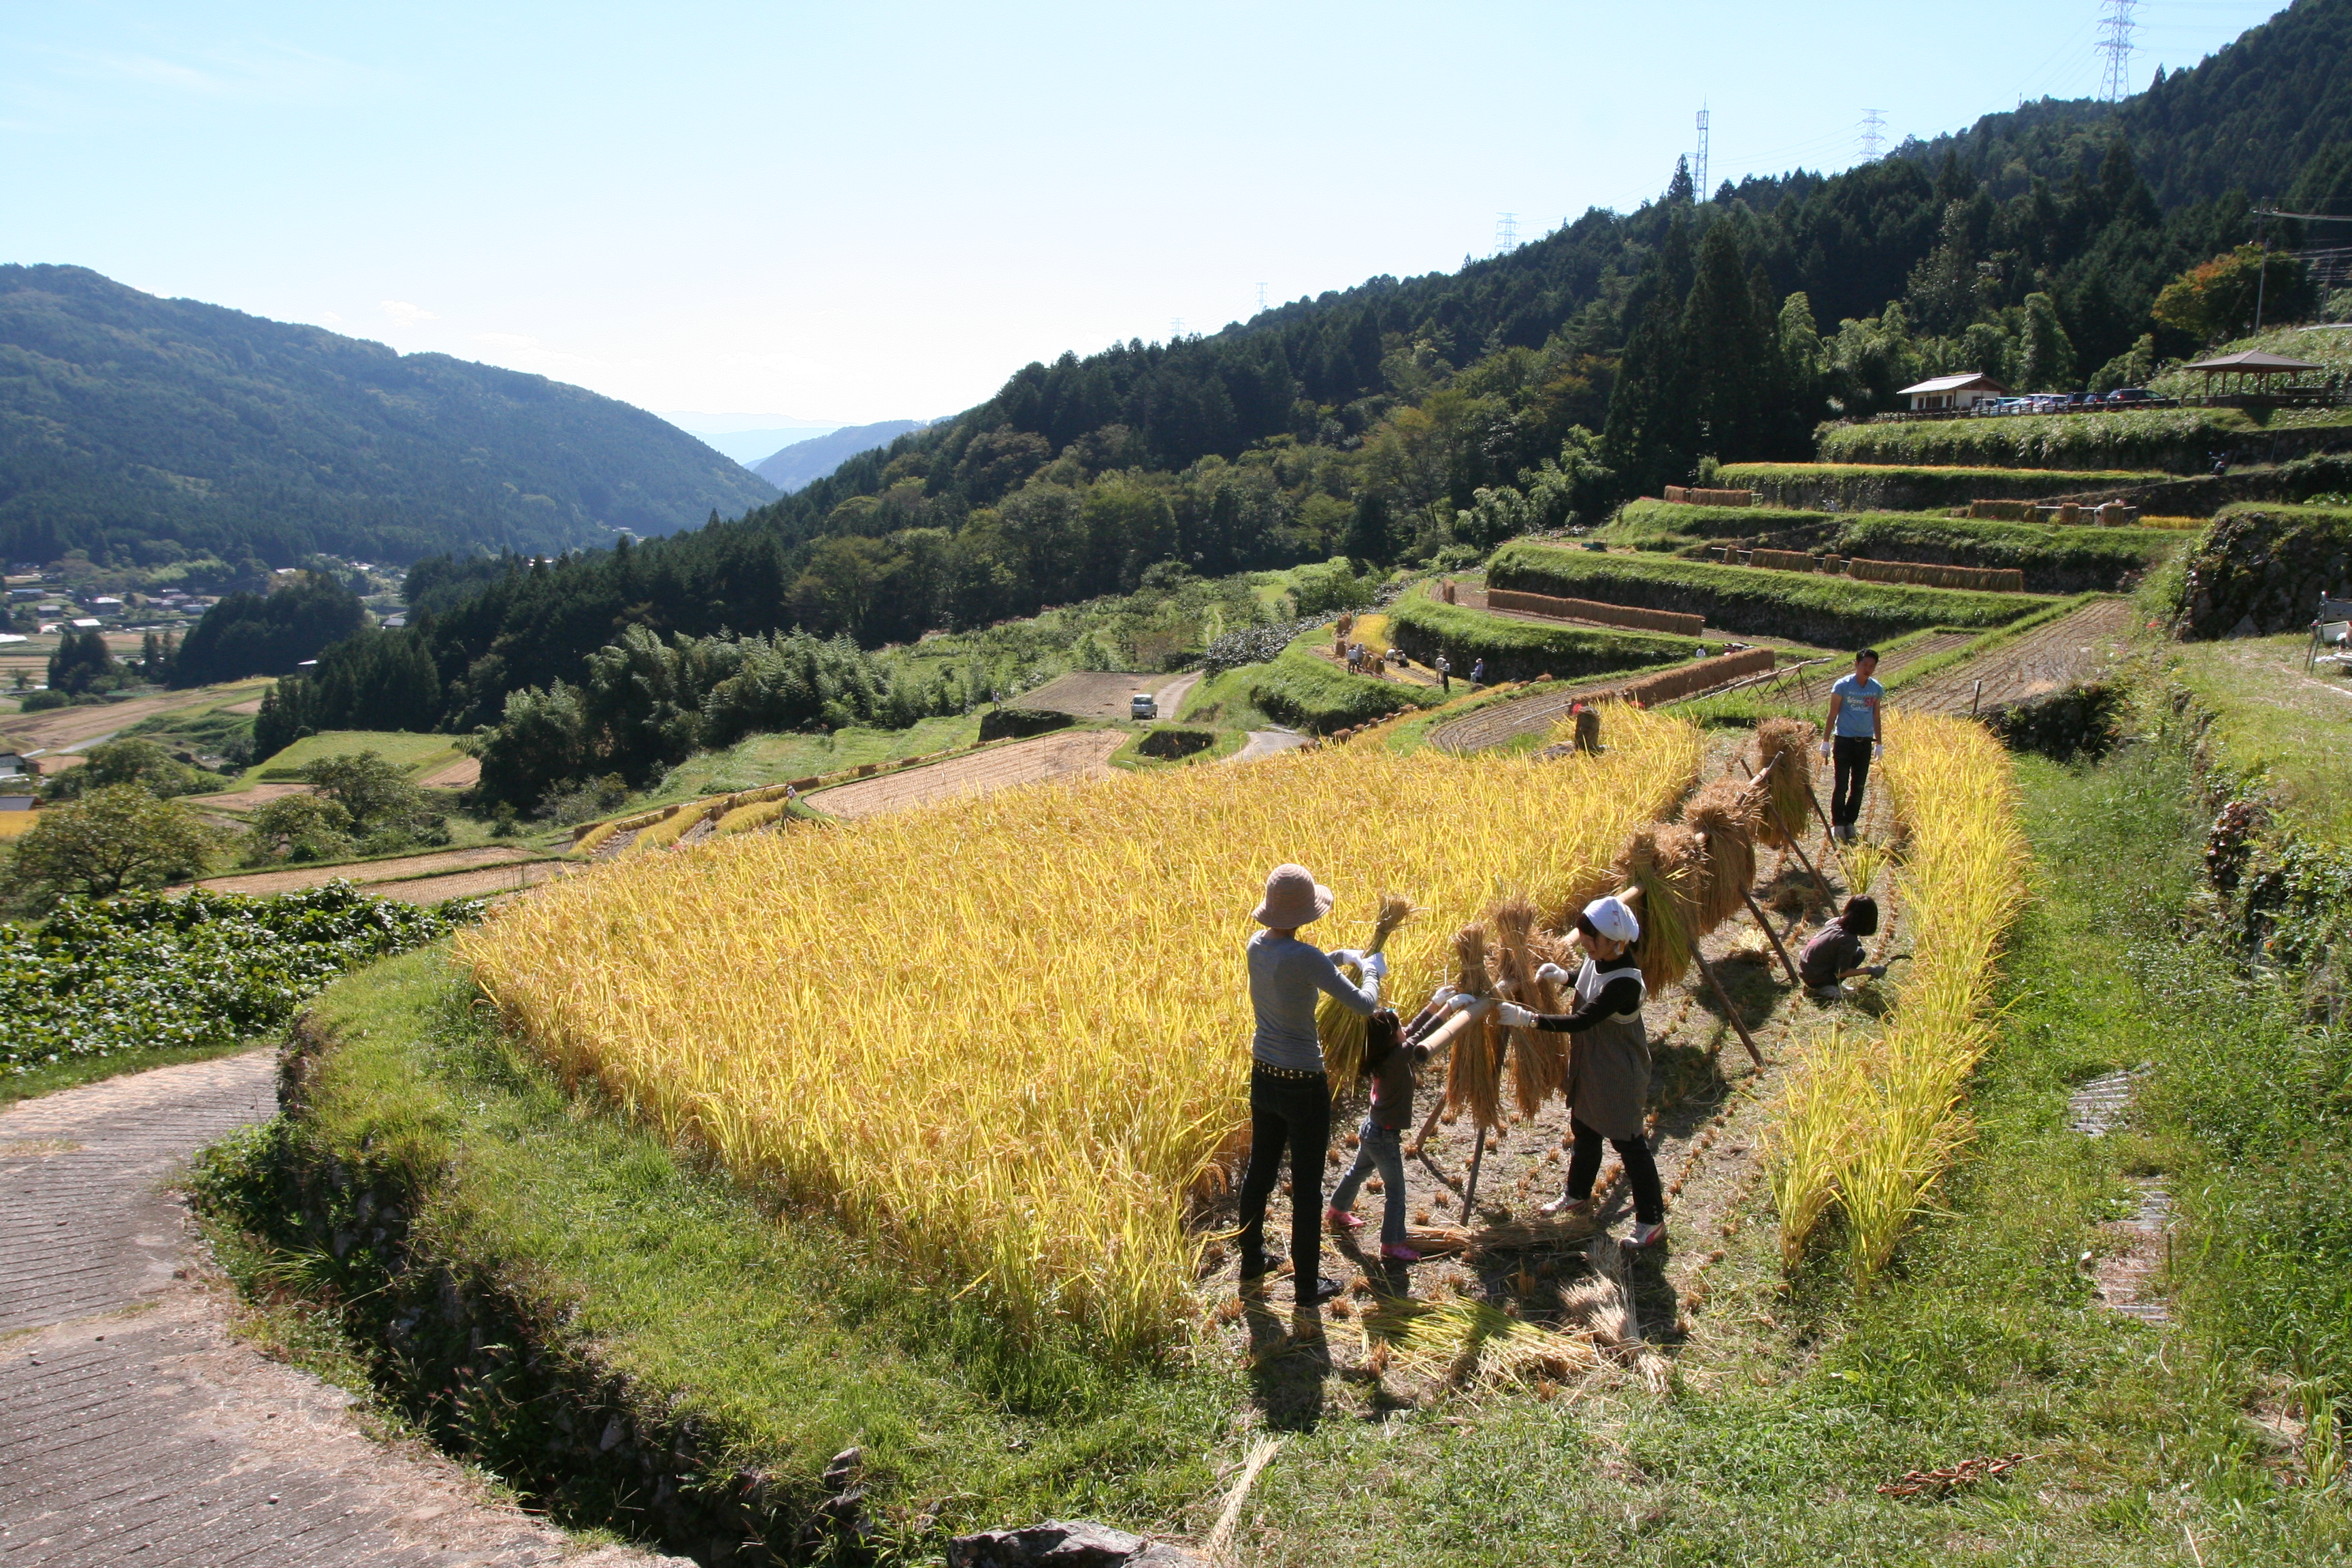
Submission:
M 0 266 L 0 557 L 609 545 L 774 489 L 576 386 Z

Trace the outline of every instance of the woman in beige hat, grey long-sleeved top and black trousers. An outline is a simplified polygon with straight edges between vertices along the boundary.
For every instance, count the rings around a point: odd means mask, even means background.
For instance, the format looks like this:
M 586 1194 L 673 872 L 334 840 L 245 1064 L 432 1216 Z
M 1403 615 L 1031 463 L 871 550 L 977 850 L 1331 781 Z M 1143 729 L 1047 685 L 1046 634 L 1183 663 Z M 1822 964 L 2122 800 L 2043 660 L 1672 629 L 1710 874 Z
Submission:
M 1249 1041 L 1249 1173 L 1242 1175 L 1242 1279 L 1265 1274 L 1265 1199 L 1282 1173 L 1282 1150 L 1291 1152 L 1291 1272 L 1298 1305 L 1312 1307 L 1338 1295 L 1338 1281 L 1322 1276 L 1322 1173 L 1331 1152 L 1331 1079 L 1324 1077 L 1322 1039 L 1315 1034 L 1315 997 L 1329 992 L 1350 1013 L 1369 1018 L 1381 1006 L 1388 959 L 1378 952 L 1341 952 L 1362 964 L 1364 985 L 1348 985 L 1334 954 L 1298 940 L 1331 912 L 1331 889 L 1317 886 L 1303 865 L 1277 865 L 1265 877 L 1265 900 L 1256 919 L 1265 931 L 1249 938 L 1249 1006 L 1258 1030 Z

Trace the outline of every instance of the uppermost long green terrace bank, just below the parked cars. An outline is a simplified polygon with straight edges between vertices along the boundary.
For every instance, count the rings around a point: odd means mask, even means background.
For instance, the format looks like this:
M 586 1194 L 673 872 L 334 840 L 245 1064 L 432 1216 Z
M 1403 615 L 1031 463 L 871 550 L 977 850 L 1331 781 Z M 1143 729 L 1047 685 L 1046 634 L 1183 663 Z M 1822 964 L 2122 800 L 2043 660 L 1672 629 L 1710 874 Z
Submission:
M 1966 463 L 1980 468 L 2164 468 L 2204 473 L 2213 454 L 2277 463 L 2352 447 L 2352 421 L 2265 430 L 2239 409 L 2020 414 L 1884 425 L 1823 425 L 1823 463 Z

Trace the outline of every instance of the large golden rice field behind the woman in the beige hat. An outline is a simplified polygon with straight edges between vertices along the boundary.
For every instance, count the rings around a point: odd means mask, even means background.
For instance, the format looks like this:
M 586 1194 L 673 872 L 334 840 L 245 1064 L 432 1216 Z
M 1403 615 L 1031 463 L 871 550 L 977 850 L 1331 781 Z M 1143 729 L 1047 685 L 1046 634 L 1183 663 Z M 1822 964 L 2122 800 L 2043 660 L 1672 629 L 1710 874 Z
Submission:
M 461 959 L 515 1037 L 786 1208 L 837 1215 L 1009 1342 L 1150 1356 L 1192 1321 L 1188 1199 L 1247 1124 L 1242 950 L 1265 870 L 1310 929 L 1425 910 L 1385 994 L 1519 889 L 1557 907 L 1698 771 L 1625 710 L 1599 757 L 1334 748 L 1040 785 L 633 856 L 501 907 Z

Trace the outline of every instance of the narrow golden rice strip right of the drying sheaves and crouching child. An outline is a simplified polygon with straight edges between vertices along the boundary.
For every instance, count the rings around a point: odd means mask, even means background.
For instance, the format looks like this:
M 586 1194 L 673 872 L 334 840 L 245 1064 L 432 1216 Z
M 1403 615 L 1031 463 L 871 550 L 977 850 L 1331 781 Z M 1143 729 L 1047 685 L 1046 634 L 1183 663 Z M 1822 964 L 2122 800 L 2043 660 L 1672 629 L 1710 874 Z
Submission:
M 1884 1034 L 1832 1030 L 1799 1056 L 1769 1157 L 1783 1255 L 1802 1258 L 1835 1208 L 1863 1284 L 1966 1140 L 1964 1086 L 1992 1041 L 1994 961 L 2025 867 L 2009 755 L 1983 726 L 1893 712 L 1882 766 L 1910 844 L 1896 889 L 1912 961 Z

